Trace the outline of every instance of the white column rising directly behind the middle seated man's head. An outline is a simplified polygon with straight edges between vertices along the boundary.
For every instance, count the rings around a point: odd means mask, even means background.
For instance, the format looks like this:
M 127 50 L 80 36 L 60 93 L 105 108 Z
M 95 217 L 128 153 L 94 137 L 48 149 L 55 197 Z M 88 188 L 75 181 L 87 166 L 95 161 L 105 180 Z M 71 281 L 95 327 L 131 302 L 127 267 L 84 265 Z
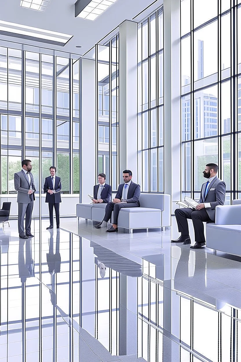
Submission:
M 122 171 L 130 169 L 137 182 L 137 23 L 119 26 L 119 159 Z

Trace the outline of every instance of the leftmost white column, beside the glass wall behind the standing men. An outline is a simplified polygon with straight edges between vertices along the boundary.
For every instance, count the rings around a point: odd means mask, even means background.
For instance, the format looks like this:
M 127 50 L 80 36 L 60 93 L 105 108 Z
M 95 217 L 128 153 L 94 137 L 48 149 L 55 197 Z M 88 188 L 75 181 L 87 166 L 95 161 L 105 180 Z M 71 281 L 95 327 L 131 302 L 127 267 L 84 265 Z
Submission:
M 81 202 L 90 203 L 87 194 L 93 193 L 96 184 L 96 96 L 95 60 L 81 59 Z

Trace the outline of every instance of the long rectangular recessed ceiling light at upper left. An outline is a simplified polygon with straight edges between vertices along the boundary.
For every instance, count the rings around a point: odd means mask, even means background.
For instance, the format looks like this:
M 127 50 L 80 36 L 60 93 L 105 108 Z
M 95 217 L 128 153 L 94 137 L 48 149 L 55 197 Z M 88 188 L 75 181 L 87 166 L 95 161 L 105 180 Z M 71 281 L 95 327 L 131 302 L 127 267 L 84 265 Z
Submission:
M 60 46 L 64 46 L 73 37 L 73 35 L 33 28 L 31 26 L 10 23 L 3 20 L 0 20 L 0 34 Z

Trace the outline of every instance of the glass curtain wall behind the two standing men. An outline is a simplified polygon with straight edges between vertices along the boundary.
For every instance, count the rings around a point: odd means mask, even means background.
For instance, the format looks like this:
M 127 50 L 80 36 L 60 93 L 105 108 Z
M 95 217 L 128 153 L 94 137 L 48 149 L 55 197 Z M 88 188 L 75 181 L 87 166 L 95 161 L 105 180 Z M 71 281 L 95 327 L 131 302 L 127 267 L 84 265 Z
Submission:
M 36 193 L 55 165 L 63 193 L 79 194 L 79 60 L 0 47 L 0 121 L 0 194 L 17 193 L 25 158 Z

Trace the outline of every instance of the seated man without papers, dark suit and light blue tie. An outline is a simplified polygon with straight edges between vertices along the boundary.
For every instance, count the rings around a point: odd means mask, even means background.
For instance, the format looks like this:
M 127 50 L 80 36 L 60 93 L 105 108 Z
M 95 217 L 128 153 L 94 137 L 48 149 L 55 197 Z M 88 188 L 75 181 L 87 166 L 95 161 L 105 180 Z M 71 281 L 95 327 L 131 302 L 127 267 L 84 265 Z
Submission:
M 113 214 L 113 224 L 107 232 L 116 232 L 118 231 L 117 222 L 118 215 L 121 207 L 139 207 L 139 197 L 141 194 L 140 185 L 132 182 L 132 172 L 130 170 L 123 171 L 123 180 L 124 184 L 119 185 L 116 198 L 113 199 L 113 202 L 109 202 L 106 206 L 106 214 L 103 221 L 96 225 L 97 229 L 101 227 L 106 227 L 109 219 L 111 218 L 111 213 Z

